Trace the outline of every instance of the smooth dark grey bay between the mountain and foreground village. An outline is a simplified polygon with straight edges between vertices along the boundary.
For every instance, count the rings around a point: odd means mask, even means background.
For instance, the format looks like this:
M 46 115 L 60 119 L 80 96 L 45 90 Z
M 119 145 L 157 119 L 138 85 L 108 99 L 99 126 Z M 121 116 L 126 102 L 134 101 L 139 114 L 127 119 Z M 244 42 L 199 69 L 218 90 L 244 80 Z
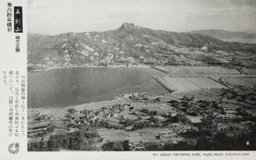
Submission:
M 111 100 L 117 94 L 164 94 L 151 68 L 62 68 L 28 72 L 28 108 L 53 108 Z

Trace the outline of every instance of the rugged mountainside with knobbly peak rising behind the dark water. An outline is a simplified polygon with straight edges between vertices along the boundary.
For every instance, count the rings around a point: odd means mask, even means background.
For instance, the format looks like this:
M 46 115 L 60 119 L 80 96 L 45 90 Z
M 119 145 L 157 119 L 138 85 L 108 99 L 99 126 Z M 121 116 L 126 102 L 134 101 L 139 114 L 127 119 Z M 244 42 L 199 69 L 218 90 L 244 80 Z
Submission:
M 251 66 L 255 59 L 249 58 L 256 51 L 256 44 L 151 30 L 133 23 L 104 32 L 70 32 L 55 36 L 28 34 L 27 47 L 29 65 L 46 67 L 123 63 Z M 243 61 L 240 61 L 241 54 Z

